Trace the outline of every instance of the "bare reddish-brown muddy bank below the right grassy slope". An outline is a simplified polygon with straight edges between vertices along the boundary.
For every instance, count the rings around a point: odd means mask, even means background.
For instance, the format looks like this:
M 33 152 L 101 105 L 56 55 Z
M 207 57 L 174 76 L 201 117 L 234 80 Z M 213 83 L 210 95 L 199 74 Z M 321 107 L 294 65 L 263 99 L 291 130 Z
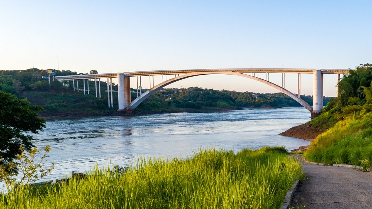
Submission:
M 285 132 L 280 133 L 279 135 L 288 136 L 288 137 L 296 137 L 299 139 L 304 139 L 307 141 L 313 141 L 319 134 L 323 133 L 318 128 L 312 126 L 311 122 L 307 122 L 305 124 L 301 124 L 299 126 L 292 127 Z M 298 149 L 294 149 L 291 151 L 305 151 L 309 146 L 301 146 Z

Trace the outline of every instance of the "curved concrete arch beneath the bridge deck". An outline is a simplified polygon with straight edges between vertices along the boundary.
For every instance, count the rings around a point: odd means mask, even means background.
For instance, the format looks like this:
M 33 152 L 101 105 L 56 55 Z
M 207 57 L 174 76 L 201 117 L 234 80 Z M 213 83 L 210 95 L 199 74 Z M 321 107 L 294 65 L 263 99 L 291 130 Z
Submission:
M 310 106 L 310 104 L 305 102 L 303 99 L 297 97 L 297 95 L 293 94 L 292 92 L 288 91 L 287 89 L 282 88 L 282 87 L 280 87 L 280 86 L 278 86 L 278 85 L 276 85 L 272 82 L 269 82 L 267 80 L 264 80 L 264 79 L 261 79 L 261 78 L 258 78 L 258 77 L 254 77 L 254 76 L 251 76 L 251 75 L 243 74 L 243 73 L 237 73 L 237 72 L 192 72 L 192 73 L 187 73 L 185 75 L 181 75 L 181 76 L 178 76 L 178 77 L 175 77 L 175 78 L 171 78 L 169 80 L 166 80 L 166 81 L 152 87 L 148 91 L 144 92 L 141 96 L 139 96 L 138 98 L 133 100 L 125 108 L 125 111 L 133 111 L 134 108 L 136 108 L 139 104 L 141 104 L 145 99 L 147 99 L 152 94 L 160 91 L 163 87 L 165 87 L 169 84 L 172 84 L 174 82 L 177 82 L 177 81 L 189 78 L 189 77 L 200 76 L 200 75 L 211 75 L 211 74 L 236 75 L 236 76 L 246 77 L 246 78 L 249 78 L 249 79 L 252 79 L 252 80 L 259 81 L 259 82 L 267 84 L 267 85 L 279 90 L 280 92 L 286 94 L 287 96 L 291 97 L 292 99 L 294 99 L 295 101 L 300 103 L 302 106 L 304 106 L 311 113 L 313 111 L 313 108 Z

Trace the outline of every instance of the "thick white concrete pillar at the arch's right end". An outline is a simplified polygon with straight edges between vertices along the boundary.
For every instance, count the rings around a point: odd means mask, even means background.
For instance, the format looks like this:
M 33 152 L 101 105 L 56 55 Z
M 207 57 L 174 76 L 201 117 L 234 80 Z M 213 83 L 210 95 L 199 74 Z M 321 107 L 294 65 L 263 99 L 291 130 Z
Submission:
M 314 92 L 313 92 L 313 108 L 311 118 L 315 118 L 319 115 L 323 109 L 323 74 L 321 70 L 314 70 Z

